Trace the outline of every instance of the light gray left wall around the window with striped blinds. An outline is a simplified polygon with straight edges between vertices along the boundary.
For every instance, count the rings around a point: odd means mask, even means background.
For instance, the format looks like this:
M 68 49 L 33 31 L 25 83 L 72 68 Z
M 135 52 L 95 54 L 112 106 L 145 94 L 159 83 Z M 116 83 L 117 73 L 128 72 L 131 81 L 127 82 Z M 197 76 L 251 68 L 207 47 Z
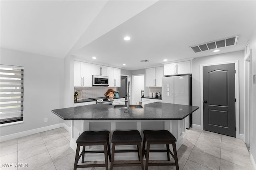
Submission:
M 63 107 L 64 59 L 3 48 L 0 54 L 1 64 L 24 67 L 24 123 L 1 127 L 0 135 L 63 123 L 51 110 Z

